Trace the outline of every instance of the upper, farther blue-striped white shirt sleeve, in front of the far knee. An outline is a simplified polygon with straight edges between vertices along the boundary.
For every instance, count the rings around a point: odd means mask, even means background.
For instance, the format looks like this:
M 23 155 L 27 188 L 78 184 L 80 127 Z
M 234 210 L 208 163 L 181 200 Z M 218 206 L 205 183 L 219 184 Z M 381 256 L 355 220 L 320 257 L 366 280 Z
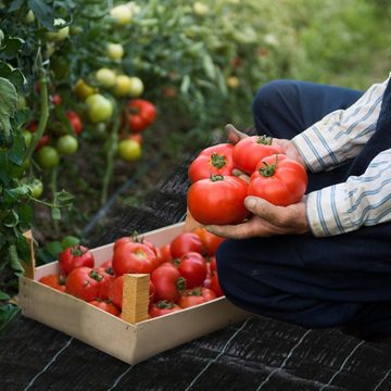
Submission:
M 326 115 L 291 140 L 308 171 L 332 169 L 360 153 L 375 131 L 388 80 L 373 85 L 350 108 Z

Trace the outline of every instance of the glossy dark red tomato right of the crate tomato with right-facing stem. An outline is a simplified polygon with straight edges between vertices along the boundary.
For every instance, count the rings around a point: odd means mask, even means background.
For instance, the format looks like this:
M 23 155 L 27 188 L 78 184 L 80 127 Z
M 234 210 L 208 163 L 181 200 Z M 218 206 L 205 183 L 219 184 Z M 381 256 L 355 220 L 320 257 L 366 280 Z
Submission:
M 189 252 L 180 257 L 178 272 L 186 279 L 187 288 L 199 287 L 206 278 L 206 261 L 201 254 Z

